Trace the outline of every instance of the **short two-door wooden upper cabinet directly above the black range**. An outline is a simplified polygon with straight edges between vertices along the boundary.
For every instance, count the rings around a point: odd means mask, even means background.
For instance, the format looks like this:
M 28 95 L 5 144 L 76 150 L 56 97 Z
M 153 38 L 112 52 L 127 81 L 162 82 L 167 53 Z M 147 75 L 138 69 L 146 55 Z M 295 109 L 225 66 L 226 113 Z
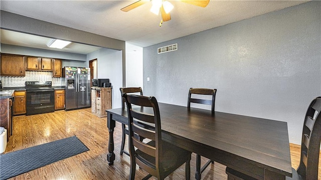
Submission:
M 27 57 L 27 70 L 29 71 L 52 71 L 51 58 Z

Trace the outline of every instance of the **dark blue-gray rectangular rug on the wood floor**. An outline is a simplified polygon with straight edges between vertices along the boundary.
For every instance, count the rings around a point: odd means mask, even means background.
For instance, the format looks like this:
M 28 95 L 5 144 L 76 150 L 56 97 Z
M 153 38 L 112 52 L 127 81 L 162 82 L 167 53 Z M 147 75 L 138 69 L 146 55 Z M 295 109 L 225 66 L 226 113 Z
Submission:
M 0 155 L 0 179 L 48 165 L 89 150 L 76 136 Z

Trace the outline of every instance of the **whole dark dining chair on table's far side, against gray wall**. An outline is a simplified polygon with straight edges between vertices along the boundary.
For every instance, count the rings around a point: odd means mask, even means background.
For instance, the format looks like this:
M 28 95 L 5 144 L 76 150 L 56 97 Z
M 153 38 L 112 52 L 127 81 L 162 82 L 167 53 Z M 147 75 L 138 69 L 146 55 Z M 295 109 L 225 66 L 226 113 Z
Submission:
M 191 108 L 191 103 L 206 104 L 206 105 L 212 106 L 211 110 L 212 110 L 212 114 L 214 114 L 216 91 L 217 91 L 216 89 L 190 88 L 189 98 L 187 103 L 188 109 Z M 200 96 L 198 96 L 198 98 L 192 97 L 192 94 L 195 94 L 196 96 L 201 95 L 201 97 Z M 210 99 L 205 99 L 205 97 L 203 96 L 210 96 Z M 196 179 L 198 180 L 201 179 L 202 172 L 206 169 L 206 167 L 210 163 L 214 163 L 214 161 L 208 160 L 205 163 L 205 165 L 201 168 L 201 155 L 196 154 L 196 172 L 195 172 Z

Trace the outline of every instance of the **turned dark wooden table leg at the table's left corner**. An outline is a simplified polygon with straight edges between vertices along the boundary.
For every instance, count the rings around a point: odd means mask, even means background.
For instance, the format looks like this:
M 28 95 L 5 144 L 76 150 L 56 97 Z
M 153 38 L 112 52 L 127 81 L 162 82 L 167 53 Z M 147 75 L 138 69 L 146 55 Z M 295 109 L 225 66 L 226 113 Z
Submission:
M 115 128 L 115 121 L 112 120 L 112 115 L 108 112 L 107 113 L 107 127 L 109 132 L 109 140 L 108 140 L 108 154 L 107 154 L 107 161 L 109 165 L 114 164 L 115 160 L 115 153 L 114 153 L 114 128 Z

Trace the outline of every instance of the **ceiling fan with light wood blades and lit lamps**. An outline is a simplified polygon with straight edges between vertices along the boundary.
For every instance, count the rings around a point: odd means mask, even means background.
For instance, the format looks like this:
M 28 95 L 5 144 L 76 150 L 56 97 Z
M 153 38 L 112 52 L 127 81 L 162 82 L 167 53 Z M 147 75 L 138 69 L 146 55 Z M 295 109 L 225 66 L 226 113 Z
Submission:
M 179 1 L 183 3 L 203 7 L 203 8 L 205 8 L 210 2 L 210 0 L 179 0 Z M 152 3 L 150 12 L 154 13 L 155 15 L 161 16 L 161 23 L 159 23 L 159 26 L 162 26 L 163 22 L 171 20 L 170 11 L 172 11 L 174 6 L 169 1 L 166 1 L 166 0 L 139 0 L 120 10 L 123 12 L 128 12 L 148 2 Z M 161 14 L 159 14 L 159 12 Z

